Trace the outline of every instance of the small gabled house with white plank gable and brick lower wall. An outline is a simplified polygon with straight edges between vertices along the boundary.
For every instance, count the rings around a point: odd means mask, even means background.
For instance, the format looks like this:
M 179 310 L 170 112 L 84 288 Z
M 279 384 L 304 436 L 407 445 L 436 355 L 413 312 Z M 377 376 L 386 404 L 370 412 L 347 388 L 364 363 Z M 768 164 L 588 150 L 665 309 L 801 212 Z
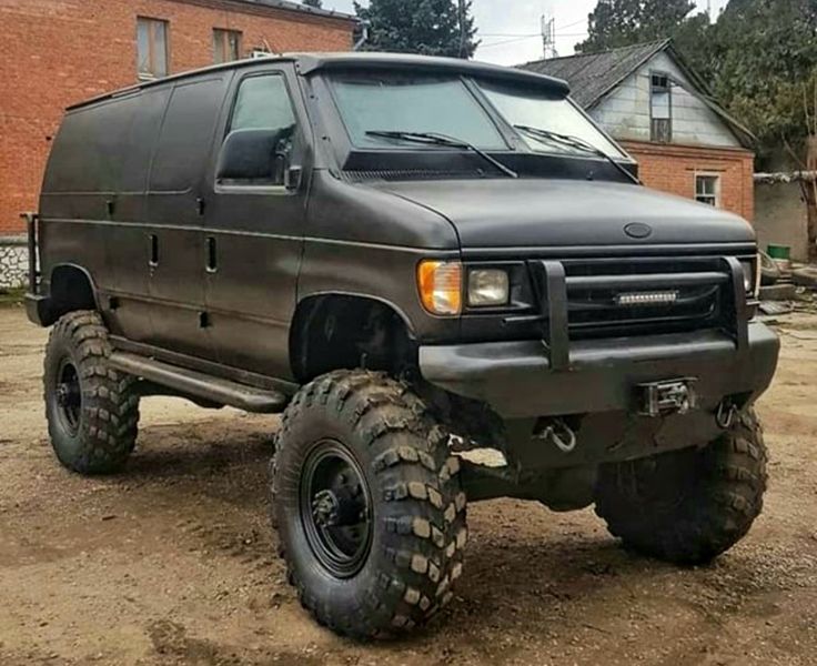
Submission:
M 754 219 L 754 138 L 669 40 L 522 67 L 566 80 L 648 186 Z

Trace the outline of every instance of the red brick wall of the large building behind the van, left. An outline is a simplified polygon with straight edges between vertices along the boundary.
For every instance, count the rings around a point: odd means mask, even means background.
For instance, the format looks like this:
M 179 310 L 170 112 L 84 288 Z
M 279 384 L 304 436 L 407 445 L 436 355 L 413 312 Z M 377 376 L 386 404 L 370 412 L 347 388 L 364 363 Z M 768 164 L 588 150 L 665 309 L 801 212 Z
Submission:
M 213 62 L 213 28 L 240 30 L 245 52 L 346 51 L 351 21 L 233 0 L 0 0 L 0 235 L 37 210 L 62 110 L 137 82 L 137 17 L 169 21 L 171 73 Z

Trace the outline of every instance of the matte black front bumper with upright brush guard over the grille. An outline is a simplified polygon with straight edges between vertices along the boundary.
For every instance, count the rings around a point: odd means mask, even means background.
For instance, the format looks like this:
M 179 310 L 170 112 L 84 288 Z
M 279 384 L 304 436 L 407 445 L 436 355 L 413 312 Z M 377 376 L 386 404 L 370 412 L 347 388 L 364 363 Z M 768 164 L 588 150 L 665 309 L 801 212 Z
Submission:
M 692 417 L 714 412 L 727 397 L 747 404 L 770 384 L 779 342 L 750 322 L 740 261 L 732 256 L 679 259 L 673 273 L 575 275 L 569 262 L 531 261 L 539 303 L 541 340 L 422 346 L 423 377 L 482 401 L 505 420 L 624 412 L 644 414 L 644 392 L 686 382 L 694 387 Z M 568 270 L 566 270 L 566 266 Z M 683 268 L 680 269 L 684 270 Z M 582 339 L 571 325 L 576 292 L 644 292 L 679 286 L 717 289 L 717 312 L 699 329 Z M 575 329 L 575 326 L 574 326 Z

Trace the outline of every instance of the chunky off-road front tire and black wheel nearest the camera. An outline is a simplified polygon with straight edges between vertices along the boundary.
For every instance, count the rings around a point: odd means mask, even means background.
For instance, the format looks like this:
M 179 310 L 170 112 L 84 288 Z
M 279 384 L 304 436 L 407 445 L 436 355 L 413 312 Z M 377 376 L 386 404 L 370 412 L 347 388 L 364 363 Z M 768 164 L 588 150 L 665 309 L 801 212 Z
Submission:
M 424 403 L 383 374 L 334 372 L 293 398 L 272 463 L 273 523 L 319 623 L 387 638 L 451 601 L 467 538 L 458 468 Z

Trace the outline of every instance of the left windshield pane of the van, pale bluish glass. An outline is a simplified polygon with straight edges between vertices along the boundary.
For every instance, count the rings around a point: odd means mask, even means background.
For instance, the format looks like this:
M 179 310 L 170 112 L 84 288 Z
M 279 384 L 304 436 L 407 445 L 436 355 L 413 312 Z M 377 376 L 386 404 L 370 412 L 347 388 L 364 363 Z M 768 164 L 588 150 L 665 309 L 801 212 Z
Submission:
M 487 112 L 456 77 L 366 72 L 332 79 L 343 123 L 357 148 L 391 148 L 367 132 L 444 134 L 483 150 L 508 147 Z

